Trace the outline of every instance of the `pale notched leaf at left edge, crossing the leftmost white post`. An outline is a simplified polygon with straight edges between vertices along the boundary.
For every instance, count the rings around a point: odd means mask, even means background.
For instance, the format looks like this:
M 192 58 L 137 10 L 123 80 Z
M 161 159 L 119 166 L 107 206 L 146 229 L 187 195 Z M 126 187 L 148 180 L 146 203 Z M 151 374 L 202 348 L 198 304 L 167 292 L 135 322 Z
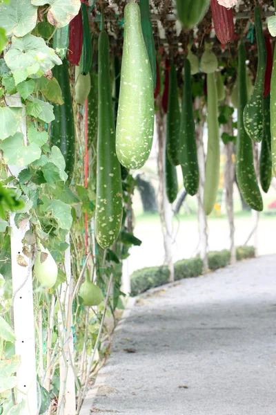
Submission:
M 14 136 L 6 138 L 1 142 L 0 149 L 3 150 L 5 164 L 26 166 L 41 156 L 41 149 L 37 144 L 31 142 L 24 145 L 22 133 L 15 133 Z

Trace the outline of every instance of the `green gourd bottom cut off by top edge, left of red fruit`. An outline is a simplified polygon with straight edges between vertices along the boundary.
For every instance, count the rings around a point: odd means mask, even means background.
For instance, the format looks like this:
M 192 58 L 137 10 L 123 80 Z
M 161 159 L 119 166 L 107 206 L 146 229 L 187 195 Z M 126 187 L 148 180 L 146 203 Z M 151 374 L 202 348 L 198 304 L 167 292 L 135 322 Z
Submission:
M 177 0 L 177 17 L 184 29 L 196 26 L 204 17 L 210 0 Z

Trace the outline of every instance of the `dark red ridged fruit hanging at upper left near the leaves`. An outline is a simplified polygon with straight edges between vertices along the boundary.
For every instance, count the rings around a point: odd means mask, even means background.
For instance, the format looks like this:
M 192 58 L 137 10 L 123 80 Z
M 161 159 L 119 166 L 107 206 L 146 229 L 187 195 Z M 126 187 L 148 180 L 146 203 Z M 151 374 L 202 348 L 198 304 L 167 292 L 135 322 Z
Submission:
M 68 61 L 71 65 L 78 65 L 81 59 L 83 44 L 83 24 L 81 16 L 81 8 L 79 13 L 69 24 L 69 50 Z

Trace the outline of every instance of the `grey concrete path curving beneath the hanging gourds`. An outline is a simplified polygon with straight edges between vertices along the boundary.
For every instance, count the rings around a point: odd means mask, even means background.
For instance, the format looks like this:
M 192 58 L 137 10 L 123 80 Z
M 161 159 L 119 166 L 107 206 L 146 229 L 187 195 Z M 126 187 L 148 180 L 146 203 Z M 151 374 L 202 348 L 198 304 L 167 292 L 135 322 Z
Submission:
M 275 318 L 276 256 L 139 299 L 98 376 L 92 414 L 275 415 Z

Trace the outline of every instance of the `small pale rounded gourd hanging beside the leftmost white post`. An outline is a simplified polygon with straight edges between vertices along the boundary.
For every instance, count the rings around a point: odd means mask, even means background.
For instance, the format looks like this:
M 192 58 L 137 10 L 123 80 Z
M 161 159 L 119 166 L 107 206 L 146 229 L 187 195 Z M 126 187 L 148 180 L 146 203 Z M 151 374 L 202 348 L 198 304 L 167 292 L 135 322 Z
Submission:
M 37 243 L 37 257 L 34 261 L 34 274 L 43 288 L 52 288 L 57 282 L 57 264 L 47 248 Z

